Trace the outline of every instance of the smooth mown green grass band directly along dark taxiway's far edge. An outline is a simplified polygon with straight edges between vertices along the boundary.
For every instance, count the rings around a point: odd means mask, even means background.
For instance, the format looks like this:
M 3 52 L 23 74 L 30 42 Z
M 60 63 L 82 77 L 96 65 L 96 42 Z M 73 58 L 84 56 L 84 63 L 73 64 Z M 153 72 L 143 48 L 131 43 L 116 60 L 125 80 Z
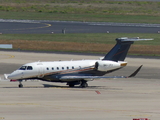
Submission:
M 23 20 L 60 20 L 81 22 L 119 22 L 119 23 L 160 23 L 160 16 L 153 15 L 112 15 L 112 14 L 63 14 L 35 12 L 4 12 L 0 11 L 3 19 Z

